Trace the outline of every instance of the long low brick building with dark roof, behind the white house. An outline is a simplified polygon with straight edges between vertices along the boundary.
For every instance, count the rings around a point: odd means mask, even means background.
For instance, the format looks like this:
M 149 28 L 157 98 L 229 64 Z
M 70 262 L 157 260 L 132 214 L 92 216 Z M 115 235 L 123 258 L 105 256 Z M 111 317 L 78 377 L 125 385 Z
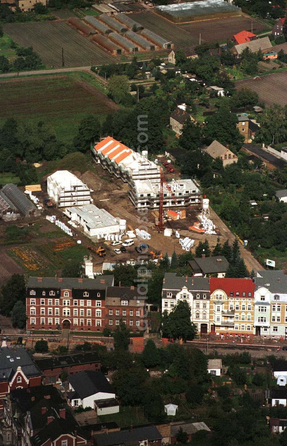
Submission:
M 36 359 L 35 363 L 44 376 L 43 384 L 56 383 L 61 379 L 63 372 L 71 375 L 83 370 L 96 370 L 97 372 L 101 370 L 101 360 L 95 351 Z

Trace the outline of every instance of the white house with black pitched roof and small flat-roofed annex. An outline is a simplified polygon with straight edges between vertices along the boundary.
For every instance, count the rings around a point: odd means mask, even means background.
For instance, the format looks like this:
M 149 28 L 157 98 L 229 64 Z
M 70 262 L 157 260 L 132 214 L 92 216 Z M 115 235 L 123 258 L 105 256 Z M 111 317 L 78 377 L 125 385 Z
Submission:
M 115 393 L 101 372 L 84 370 L 68 377 L 68 401 L 72 407 L 91 407 L 97 415 L 118 413 L 119 405 Z

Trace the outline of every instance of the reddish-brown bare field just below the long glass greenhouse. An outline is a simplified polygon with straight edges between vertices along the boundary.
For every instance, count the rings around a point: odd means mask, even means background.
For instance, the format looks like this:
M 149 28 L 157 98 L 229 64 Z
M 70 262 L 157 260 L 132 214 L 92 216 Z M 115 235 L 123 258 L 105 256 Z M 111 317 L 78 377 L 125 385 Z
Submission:
M 248 17 L 227 17 L 225 19 L 205 20 L 200 22 L 189 23 L 187 25 L 180 25 L 181 29 L 188 31 L 194 38 L 197 44 L 199 42 L 199 34 L 201 39 L 207 42 L 226 42 L 233 34 L 239 33 L 243 29 L 257 34 L 262 32 L 266 26 Z

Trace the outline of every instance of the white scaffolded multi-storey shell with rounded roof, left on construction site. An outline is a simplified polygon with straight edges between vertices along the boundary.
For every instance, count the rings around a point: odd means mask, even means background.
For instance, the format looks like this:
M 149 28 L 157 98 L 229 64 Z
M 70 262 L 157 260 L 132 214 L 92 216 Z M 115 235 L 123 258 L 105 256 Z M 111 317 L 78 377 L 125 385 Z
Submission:
M 47 192 L 58 207 L 93 203 L 93 190 L 68 170 L 57 170 L 47 178 Z

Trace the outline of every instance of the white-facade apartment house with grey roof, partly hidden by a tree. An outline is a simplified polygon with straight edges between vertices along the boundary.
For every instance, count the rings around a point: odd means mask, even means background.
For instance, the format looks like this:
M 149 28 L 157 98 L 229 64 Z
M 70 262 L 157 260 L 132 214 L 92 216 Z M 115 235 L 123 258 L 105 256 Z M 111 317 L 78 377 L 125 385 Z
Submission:
M 203 277 L 177 277 L 166 273 L 162 288 L 162 313 L 173 310 L 179 301 L 187 301 L 191 309 L 191 322 L 198 333 L 209 333 L 209 279 Z

